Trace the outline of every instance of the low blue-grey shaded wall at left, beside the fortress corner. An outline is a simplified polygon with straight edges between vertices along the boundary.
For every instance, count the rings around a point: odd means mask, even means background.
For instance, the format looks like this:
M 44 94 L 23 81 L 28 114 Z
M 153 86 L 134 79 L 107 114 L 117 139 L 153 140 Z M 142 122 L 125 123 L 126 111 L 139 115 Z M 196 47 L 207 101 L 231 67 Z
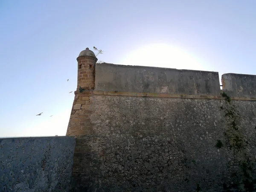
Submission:
M 1 192 L 68 192 L 74 137 L 0 139 Z

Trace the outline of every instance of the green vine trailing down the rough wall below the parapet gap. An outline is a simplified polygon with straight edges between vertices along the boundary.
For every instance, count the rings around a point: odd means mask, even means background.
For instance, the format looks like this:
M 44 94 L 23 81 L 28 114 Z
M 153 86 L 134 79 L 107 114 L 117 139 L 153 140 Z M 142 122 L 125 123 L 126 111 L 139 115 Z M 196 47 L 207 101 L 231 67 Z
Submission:
M 234 183 L 239 187 L 240 191 L 252 192 L 255 190 L 254 185 L 256 184 L 256 174 L 253 172 L 253 162 L 247 152 L 248 141 L 244 137 L 241 130 L 241 117 L 235 104 L 232 102 L 227 93 L 221 94 L 225 97 L 226 105 L 221 106 L 221 110 L 224 110 L 224 116 L 226 120 L 226 128 L 224 136 L 226 137 L 226 146 L 233 151 L 234 159 L 230 166 L 233 168 L 234 164 L 240 167 L 242 176 L 237 174 L 237 171 L 233 173 L 240 179 L 239 183 Z M 220 145 L 218 145 L 220 146 Z M 225 183 L 224 183 L 225 184 Z

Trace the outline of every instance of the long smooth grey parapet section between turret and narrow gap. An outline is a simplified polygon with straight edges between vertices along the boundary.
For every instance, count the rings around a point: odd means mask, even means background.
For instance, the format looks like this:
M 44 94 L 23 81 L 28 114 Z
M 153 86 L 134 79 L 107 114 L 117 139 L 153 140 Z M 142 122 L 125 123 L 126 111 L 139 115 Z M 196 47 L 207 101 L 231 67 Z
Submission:
M 96 64 L 95 90 L 218 95 L 218 72 Z

